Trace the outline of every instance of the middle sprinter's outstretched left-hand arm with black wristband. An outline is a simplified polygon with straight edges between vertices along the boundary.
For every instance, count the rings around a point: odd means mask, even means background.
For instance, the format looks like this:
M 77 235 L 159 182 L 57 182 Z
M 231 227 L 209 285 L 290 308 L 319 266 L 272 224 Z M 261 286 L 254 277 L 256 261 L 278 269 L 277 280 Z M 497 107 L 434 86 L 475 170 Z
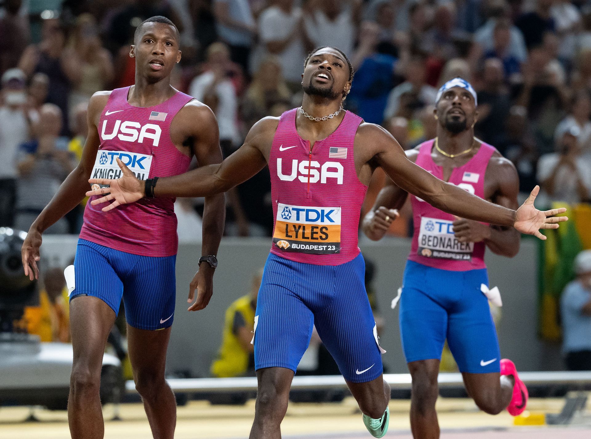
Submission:
M 155 197 L 207 197 L 227 191 L 253 177 L 267 165 L 263 154 L 265 145 L 270 145 L 277 128 L 275 118 L 264 118 L 251 128 L 241 148 L 221 164 L 203 166 L 174 177 L 159 178 L 154 188 Z M 103 207 L 103 212 L 114 209 L 120 204 L 134 203 L 145 196 L 145 183 L 121 161 L 117 161 L 123 170 L 118 180 L 94 178 L 91 184 L 106 184 L 109 187 L 88 191 L 87 196 L 106 194 L 105 197 L 92 200 L 93 205 L 114 200 Z

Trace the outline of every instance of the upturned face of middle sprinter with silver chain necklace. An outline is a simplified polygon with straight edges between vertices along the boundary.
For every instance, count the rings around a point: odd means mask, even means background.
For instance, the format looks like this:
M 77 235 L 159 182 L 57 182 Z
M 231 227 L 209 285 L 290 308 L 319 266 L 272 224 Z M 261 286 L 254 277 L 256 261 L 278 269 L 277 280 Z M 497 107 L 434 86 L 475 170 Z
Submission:
M 304 66 L 301 84 L 307 95 L 342 99 L 351 88 L 349 64 L 339 51 L 322 48 Z

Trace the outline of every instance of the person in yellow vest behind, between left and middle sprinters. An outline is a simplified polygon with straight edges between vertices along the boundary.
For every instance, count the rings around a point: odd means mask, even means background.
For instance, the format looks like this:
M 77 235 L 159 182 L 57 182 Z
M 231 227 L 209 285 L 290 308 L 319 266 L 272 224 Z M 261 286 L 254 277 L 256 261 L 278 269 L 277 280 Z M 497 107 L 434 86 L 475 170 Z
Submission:
M 262 269 L 252 278 L 249 294 L 242 296 L 226 310 L 222 346 L 212 364 L 217 378 L 254 375 L 254 337 L 256 297 L 261 287 Z

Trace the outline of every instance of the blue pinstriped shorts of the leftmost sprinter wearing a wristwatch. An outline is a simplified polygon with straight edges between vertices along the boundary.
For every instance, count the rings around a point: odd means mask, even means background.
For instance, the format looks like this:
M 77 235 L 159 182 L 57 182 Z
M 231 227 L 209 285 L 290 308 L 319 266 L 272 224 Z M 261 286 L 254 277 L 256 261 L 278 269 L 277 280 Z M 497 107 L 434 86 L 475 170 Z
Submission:
M 92 295 L 118 314 L 123 298 L 129 326 L 167 328 L 174 320 L 175 263 L 176 255 L 134 255 L 79 239 L 74 259 L 76 287 L 70 301 Z

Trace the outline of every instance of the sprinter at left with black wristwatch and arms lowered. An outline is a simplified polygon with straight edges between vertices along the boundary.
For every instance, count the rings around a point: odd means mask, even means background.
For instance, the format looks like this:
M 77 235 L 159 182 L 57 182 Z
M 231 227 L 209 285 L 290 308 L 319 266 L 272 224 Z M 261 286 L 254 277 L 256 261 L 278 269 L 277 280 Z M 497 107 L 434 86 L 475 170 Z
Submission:
M 179 40 L 169 19 L 148 18 L 137 27 L 129 52 L 136 63 L 135 85 L 90 99 L 82 160 L 35 220 L 22 247 L 25 274 L 31 278 L 38 277 L 41 233 L 82 201 L 89 178 L 116 178 L 121 175 L 118 161 L 142 183 L 185 173 L 193 156 L 200 166 L 222 161 L 212 111 L 170 85 L 171 71 L 181 58 Z M 68 417 L 74 439 L 103 437 L 102 357 L 122 298 L 129 359 L 152 433 L 173 439 L 176 402 L 164 379 L 176 296 L 173 204 L 174 197 L 144 199 L 112 215 L 86 205 L 69 282 L 74 364 Z M 224 212 L 223 194 L 207 197 L 202 249 L 209 256 L 202 258 L 207 263 L 193 279 L 202 292 L 193 309 L 204 308 L 212 295 Z

